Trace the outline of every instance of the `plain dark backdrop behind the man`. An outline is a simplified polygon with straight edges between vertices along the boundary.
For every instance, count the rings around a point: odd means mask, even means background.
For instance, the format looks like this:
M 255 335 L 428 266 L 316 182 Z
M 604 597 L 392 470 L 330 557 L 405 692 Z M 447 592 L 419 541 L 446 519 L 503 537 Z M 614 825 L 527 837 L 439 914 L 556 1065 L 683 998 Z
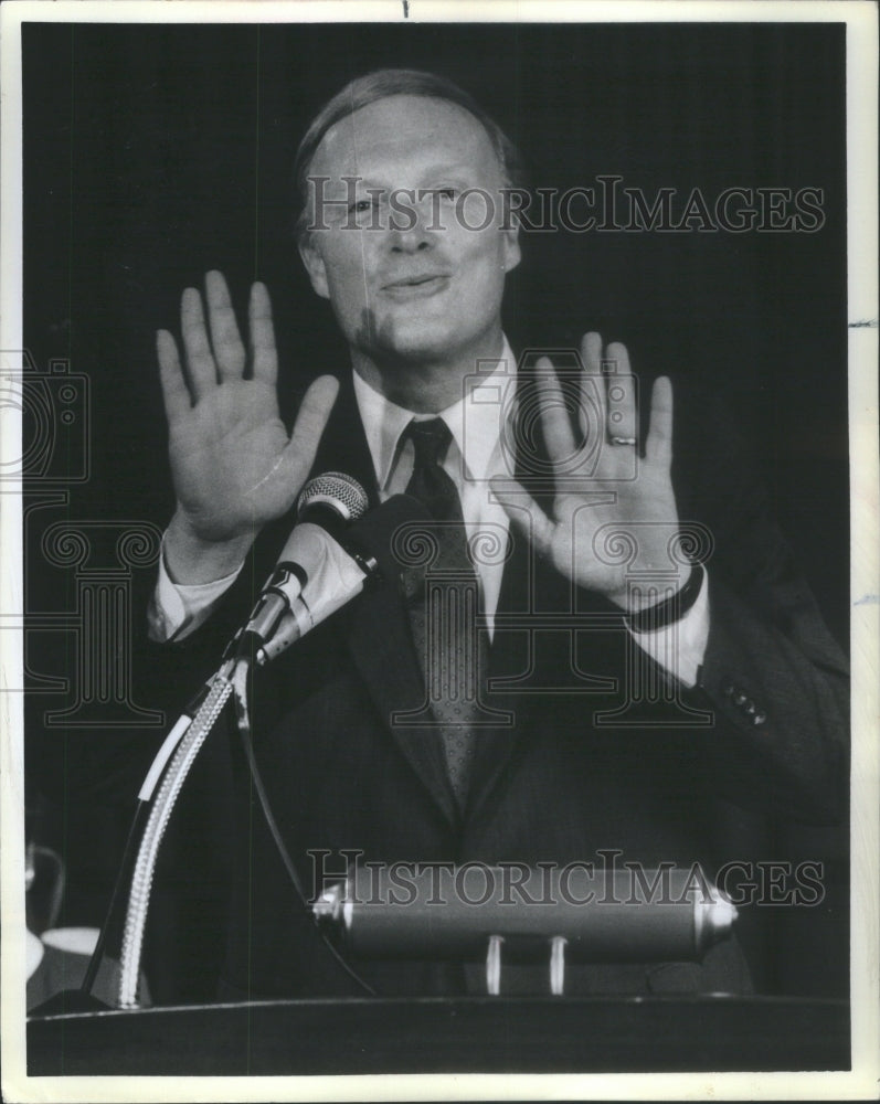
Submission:
M 63 358 L 85 373 L 92 406 L 89 479 L 70 488 L 63 509 L 32 516 L 29 613 L 74 601 L 71 572 L 41 554 L 42 527 L 59 517 L 161 527 L 170 516 L 153 335 L 177 327 L 180 291 L 205 269 L 227 275 L 241 307 L 252 279 L 268 284 L 285 412 L 309 375 L 347 370 L 329 307 L 296 255 L 293 156 L 346 81 L 409 65 L 468 88 L 519 144 L 536 187 L 618 173 L 649 199 L 676 188 L 679 205 L 697 187 L 710 205 L 731 187 L 824 190 L 826 222 L 813 234 L 526 235 L 506 328 L 515 348 L 559 347 L 596 328 L 627 342 L 636 372 L 725 392 L 846 646 L 844 45 L 842 24 L 26 24 L 25 344 L 39 369 Z M 148 588 L 150 572 L 139 576 Z M 73 678 L 73 664 L 65 634 L 29 637 L 32 675 Z M 45 728 L 43 711 L 63 704 L 32 683 L 29 807 L 33 830 L 67 863 L 60 923 L 97 924 L 131 793 L 121 784 L 107 807 L 84 799 L 82 763 L 113 733 Z M 159 734 L 139 739 L 151 747 Z M 222 767 L 197 767 L 185 830 L 169 845 L 150 945 L 162 999 L 206 996 L 220 953 L 219 925 L 205 935 L 203 923 L 222 909 L 218 777 Z M 824 905 L 759 925 L 761 988 L 846 992 L 845 831 L 743 832 L 771 848 L 755 857 L 826 862 Z M 181 904 L 177 889 L 197 871 L 206 888 Z

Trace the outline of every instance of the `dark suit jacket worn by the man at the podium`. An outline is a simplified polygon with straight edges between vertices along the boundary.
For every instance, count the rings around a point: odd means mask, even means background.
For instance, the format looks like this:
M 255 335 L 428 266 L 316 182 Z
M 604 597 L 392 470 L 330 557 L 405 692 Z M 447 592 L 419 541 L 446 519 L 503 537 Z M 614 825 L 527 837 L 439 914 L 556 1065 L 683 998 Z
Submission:
M 255 676 L 255 750 L 286 847 L 314 891 L 310 851 L 363 861 L 596 860 L 691 866 L 711 875 L 719 799 L 813 822 L 834 821 L 846 782 L 846 668 L 723 415 L 677 395 L 679 513 L 708 526 L 711 633 L 699 683 L 672 692 L 633 644 L 619 612 L 571 584 L 515 539 L 505 567 L 484 700 L 512 724 L 481 730 L 464 813 L 438 742 L 390 723 L 424 700 L 405 606 L 393 583 L 361 595 Z M 315 471 L 378 492 L 350 383 L 343 383 Z M 206 626 L 155 647 L 152 676 L 185 701 L 213 670 L 293 524 L 268 527 Z M 551 616 L 576 613 L 553 622 Z M 554 627 L 555 626 L 555 627 Z M 633 658 L 666 687 L 632 702 Z M 627 664 L 629 662 L 629 667 Z M 629 705 L 627 709 L 626 707 Z M 751 708 L 750 708 L 751 707 Z M 623 712 L 621 712 L 623 710 Z M 765 715 L 754 723 L 755 713 Z M 708 723 L 693 723 L 700 716 Z M 617 723 L 603 723 L 612 720 Z M 231 725 L 231 728 L 234 728 Z M 278 859 L 246 767 L 235 757 L 237 853 L 226 995 L 357 992 L 317 937 Z M 723 851 L 723 847 L 721 848 Z M 455 969 L 359 964 L 385 994 L 454 991 Z M 505 988 L 547 991 L 528 969 Z M 571 991 L 742 990 L 735 941 L 702 965 L 581 967 Z

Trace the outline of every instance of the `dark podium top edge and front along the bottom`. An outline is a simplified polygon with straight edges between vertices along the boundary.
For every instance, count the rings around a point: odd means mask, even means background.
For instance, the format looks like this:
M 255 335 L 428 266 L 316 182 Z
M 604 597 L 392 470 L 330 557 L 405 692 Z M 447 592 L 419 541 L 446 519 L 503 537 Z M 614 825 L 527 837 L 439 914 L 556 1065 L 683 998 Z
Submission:
M 849 1069 L 849 1005 L 786 997 L 309 999 L 32 1018 L 28 1073 Z

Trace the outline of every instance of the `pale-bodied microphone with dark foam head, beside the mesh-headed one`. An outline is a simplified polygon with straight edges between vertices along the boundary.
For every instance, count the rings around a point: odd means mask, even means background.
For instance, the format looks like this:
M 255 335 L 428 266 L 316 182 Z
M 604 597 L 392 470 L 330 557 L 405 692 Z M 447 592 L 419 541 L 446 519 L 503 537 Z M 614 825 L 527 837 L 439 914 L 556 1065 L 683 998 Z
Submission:
M 316 625 L 357 597 L 371 580 L 395 578 L 401 572 L 401 564 L 391 550 L 394 532 L 403 524 L 427 521 L 430 514 L 417 499 L 409 495 L 395 495 L 348 528 L 342 527 L 339 539 L 316 526 L 322 535 L 319 543 L 315 544 L 308 577 L 299 586 L 271 634 L 261 640 L 261 646 L 256 649 L 257 664 L 264 666 L 275 659 Z M 297 526 L 294 529 L 288 545 L 301 528 L 304 527 Z M 274 588 L 271 597 L 277 597 Z

